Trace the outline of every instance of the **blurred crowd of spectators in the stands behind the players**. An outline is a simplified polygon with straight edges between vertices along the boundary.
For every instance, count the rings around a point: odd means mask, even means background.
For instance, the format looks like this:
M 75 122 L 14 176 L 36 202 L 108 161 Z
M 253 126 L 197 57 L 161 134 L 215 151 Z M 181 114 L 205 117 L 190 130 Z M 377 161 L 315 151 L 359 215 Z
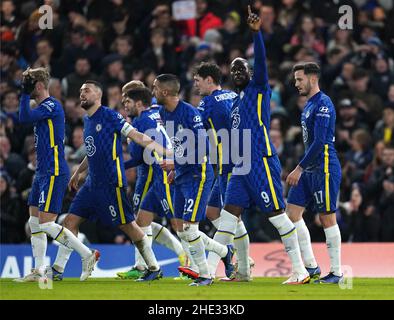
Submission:
M 394 241 L 394 1 L 393 0 L 195 0 L 196 16 L 176 20 L 174 1 L 2 0 L 0 53 L 1 242 L 28 241 L 27 196 L 36 157 L 31 126 L 18 121 L 22 72 L 47 67 L 50 94 L 66 113 L 66 158 L 71 170 L 85 156 L 84 111 L 79 88 L 100 81 L 104 103 L 125 114 L 121 87 L 132 79 L 152 86 L 156 75 L 181 79 L 181 97 L 197 106 L 193 68 L 218 63 L 223 87 L 232 88 L 229 65 L 253 63 L 247 5 L 262 19 L 271 99 L 271 138 L 283 181 L 303 155 L 300 115 L 306 98 L 294 88 L 291 68 L 299 61 L 322 67 L 321 88 L 337 111 L 336 148 L 342 164 L 337 218 L 345 242 Z M 41 5 L 53 11 L 53 29 L 40 29 Z M 352 8 L 351 29 L 340 29 L 342 5 Z M 179 18 L 178 18 L 179 19 Z M 349 21 L 348 21 L 349 22 Z M 127 155 L 126 148 L 124 153 Z M 130 196 L 136 173 L 127 172 Z M 285 188 L 287 192 L 287 187 Z M 64 201 L 67 212 L 73 194 Z M 267 217 L 244 215 L 251 241 L 279 240 Z M 313 212 L 305 214 L 312 241 L 324 241 Z M 163 221 L 166 223 L 166 221 Z M 202 228 L 212 232 L 206 222 Z M 87 223 L 91 242 L 124 243 L 111 228 Z

